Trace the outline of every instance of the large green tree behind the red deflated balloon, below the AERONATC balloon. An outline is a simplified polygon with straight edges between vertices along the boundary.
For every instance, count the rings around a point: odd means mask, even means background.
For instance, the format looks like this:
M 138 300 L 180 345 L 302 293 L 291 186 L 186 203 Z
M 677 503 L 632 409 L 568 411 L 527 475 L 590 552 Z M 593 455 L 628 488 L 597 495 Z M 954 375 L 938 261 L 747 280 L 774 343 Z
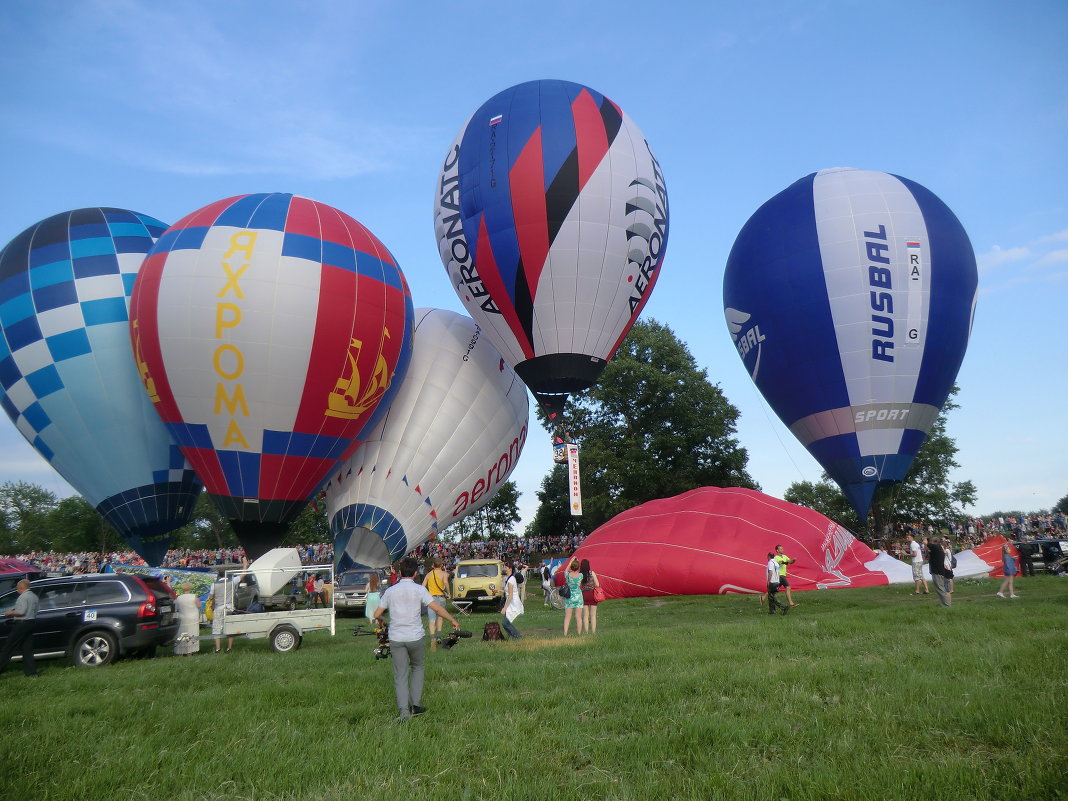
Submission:
M 583 524 L 695 487 L 757 488 L 735 437 L 738 414 L 668 326 L 637 323 L 565 412 L 580 445 Z M 552 430 L 544 415 L 543 424 Z

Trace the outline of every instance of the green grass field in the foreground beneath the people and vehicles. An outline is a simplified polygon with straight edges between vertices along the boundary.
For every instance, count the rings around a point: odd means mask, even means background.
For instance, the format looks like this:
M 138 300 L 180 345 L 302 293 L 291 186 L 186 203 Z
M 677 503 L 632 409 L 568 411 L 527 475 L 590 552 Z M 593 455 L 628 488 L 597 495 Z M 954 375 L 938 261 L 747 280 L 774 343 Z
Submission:
M 289 655 L 13 664 L 0 799 L 1068 799 L 1068 579 L 996 586 L 616 600 L 567 640 L 535 591 L 522 641 L 428 654 L 405 724 L 355 618 Z

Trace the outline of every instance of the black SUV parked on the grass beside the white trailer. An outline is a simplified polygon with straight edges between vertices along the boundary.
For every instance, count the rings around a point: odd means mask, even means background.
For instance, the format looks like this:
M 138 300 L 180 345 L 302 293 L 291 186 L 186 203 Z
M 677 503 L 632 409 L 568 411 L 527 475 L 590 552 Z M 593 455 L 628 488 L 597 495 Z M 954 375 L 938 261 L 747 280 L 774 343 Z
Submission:
M 33 629 L 37 659 L 66 657 L 76 665 L 98 668 L 128 654 L 152 656 L 178 631 L 174 595 L 151 576 L 66 576 L 38 579 L 30 588 L 41 599 Z M 0 595 L 0 613 L 17 598 L 14 591 Z M 2 619 L 0 647 L 17 618 Z

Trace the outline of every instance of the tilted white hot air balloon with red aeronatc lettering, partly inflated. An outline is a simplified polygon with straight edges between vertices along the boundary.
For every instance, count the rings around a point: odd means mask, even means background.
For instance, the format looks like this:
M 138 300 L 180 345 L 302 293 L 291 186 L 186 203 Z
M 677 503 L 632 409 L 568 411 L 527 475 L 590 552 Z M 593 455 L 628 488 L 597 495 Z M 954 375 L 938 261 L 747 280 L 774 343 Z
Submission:
M 408 374 L 327 487 L 337 569 L 380 567 L 482 508 L 527 441 L 527 389 L 474 321 L 415 312 Z

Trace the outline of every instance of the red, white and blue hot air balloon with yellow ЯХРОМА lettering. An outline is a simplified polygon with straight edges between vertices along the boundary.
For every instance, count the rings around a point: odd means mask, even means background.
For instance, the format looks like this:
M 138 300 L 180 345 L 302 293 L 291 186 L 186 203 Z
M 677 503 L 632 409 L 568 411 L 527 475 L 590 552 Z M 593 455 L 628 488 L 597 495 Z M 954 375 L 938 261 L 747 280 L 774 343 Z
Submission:
M 252 559 L 355 449 L 411 351 L 390 252 L 292 194 L 230 198 L 168 229 L 130 316 L 145 390 Z

